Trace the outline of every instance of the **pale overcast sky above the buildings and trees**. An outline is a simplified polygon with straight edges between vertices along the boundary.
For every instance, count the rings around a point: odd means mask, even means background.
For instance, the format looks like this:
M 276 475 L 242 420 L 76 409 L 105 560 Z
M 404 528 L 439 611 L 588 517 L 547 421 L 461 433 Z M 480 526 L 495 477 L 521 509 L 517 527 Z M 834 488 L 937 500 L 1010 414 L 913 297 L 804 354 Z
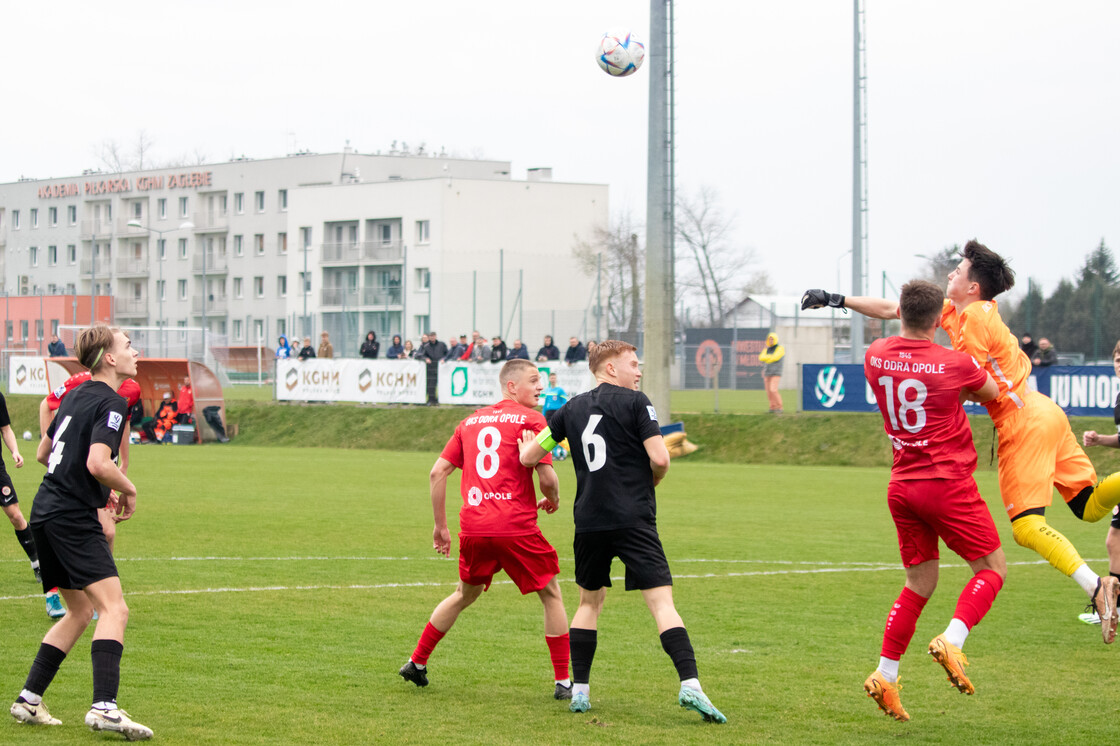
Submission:
M 978 237 L 1049 292 L 1120 248 L 1120 2 L 867 0 L 870 288 Z M 645 220 L 647 0 L 7 3 L 0 181 L 424 143 L 605 183 Z M 851 0 L 676 4 L 678 189 L 713 188 L 783 293 L 850 287 Z M 888 288 L 888 295 L 890 290 Z

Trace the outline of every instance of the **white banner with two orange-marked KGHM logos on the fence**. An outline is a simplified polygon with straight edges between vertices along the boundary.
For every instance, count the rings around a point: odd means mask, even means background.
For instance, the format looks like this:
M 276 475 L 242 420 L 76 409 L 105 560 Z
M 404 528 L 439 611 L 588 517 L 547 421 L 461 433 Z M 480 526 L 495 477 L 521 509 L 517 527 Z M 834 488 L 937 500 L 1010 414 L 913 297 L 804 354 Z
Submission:
M 278 360 L 277 401 L 422 404 L 427 370 L 417 360 Z

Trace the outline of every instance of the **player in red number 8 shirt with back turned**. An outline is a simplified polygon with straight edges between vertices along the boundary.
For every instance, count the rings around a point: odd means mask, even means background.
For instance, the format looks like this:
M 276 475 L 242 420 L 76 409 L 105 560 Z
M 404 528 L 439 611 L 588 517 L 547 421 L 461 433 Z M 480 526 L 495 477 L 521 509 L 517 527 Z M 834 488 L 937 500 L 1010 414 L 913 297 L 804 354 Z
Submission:
M 505 570 L 522 594 L 535 593 L 544 605 L 544 641 L 556 678 L 553 697 L 570 699 L 568 615 L 556 578 L 560 563 L 556 550 L 536 526 L 538 510 L 556 513 L 560 506 L 560 483 L 551 458 L 534 469 L 521 465 L 519 451 L 523 432 L 535 436 L 544 429 L 544 417 L 531 409 L 536 407 L 544 384 L 536 366 L 528 360 L 505 363 L 498 381 L 502 400 L 463 420 L 431 468 L 431 505 L 436 516 L 432 545 L 445 557 L 451 551 L 447 478 L 455 469 L 463 469 L 459 585 L 432 612 L 400 674 L 418 687 L 427 687 L 428 656 L 432 650 L 463 609 L 489 588 L 494 575 Z M 540 501 L 533 489 L 534 470 L 544 495 Z

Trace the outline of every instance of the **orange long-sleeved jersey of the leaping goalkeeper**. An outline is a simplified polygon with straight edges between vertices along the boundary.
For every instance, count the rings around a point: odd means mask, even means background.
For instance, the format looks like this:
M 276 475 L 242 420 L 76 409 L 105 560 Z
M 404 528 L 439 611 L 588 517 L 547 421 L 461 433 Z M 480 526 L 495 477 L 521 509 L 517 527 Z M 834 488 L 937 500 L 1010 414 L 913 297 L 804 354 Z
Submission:
M 941 311 L 941 328 L 949 333 L 953 349 L 968 353 L 999 385 L 999 395 L 984 403 L 996 427 L 1023 408 L 1030 376 L 1030 360 L 999 315 L 995 300 L 977 300 L 956 313 L 945 299 Z

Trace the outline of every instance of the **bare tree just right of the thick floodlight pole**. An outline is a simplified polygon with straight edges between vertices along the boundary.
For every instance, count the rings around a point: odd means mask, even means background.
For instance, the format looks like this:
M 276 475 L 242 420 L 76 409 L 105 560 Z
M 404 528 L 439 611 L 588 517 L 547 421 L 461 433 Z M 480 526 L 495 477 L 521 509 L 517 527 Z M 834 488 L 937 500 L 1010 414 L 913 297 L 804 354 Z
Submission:
M 732 225 L 734 216 L 724 215 L 711 187 L 676 201 L 676 237 L 684 248 L 676 254 L 680 298 L 685 305 L 700 306 L 711 325 L 718 324 L 737 300 L 729 296 L 748 282 L 748 269 L 755 261 L 750 249 L 731 244 Z M 768 278 L 765 280 L 768 285 Z

